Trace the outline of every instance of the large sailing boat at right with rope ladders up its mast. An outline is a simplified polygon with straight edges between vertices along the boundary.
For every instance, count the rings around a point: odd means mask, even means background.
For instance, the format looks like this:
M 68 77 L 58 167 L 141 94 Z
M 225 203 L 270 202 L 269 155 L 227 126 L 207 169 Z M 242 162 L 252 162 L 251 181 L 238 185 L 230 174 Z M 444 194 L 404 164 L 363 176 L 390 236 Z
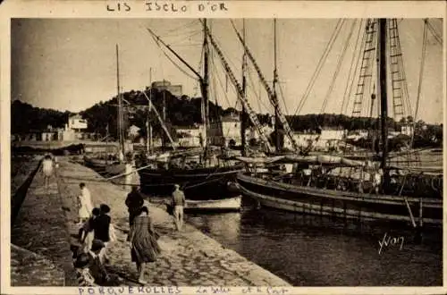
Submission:
M 392 96 L 394 92 L 401 90 L 395 86 L 396 81 L 402 79 L 394 77 L 395 66 L 401 64 L 400 48 L 397 22 L 392 20 L 368 20 L 367 37 L 376 36 L 375 42 L 371 38 L 365 38 L 364 44 L 375 46 L 374 49 L 365 48 L 365 53 L 374 50 L 378 53 L 377 59 L 377 81 L 379 89 L 378 101 L 380 101 L 380 138 L 381 154 L 380 169 L 376 163 L 371 161 L 353 160 L 343 156 L 275 156 L 275 157 L 244 157 L 240 158 L 250 166 L 246 172 L 238 174 L 237 181 L 241 193 L 253 198 L 260 206 L 283 209 L 294 213 L 305 215 L 326 215 L 341 217 L 344 219 L 355 219 L 365 221 L 386 221 L 410 223 L 415 228 L 424 224 L 440 226 L 443 223 L 443 194 L 427 195 L 426 191 L 417 191 L 414 187 L 407 185 L 412 177 L 411 170 L 390 165 L 389 151 L 387 148 L 387 87 L 392 85 Z M 376 35 L 374 35 L 376 33 Z M 388 44 L 389 43 L 389 44 Z M 387 69 L 386 57 L 388 52 L 390 69 Z M 394 51 L 392 51 L 394 50 Z M 364 54 L 363 61 L 375 60 L 374 55 Z M 360 79 L 371 77 L 372 74 L 365 72 L 367 66 L 361 64 Z M 387 80 L 387 73 L 392 75 L 392 81 Z M 359 81 L 358 87 L 362 88 L 366 82 Z M 363 93 L 358 91 L 357 94 Z M 372 97 L 375 99 L 375 97 Z M 400 103 L 393 101 L 393 106 Z M 356 104 L 354 103 L 354 109 Z M 399 111 L 394 110 L 397 114 Z M 377 132 L 379 133 L 379 132 Z M 291 173 L 273 172 L 269 164 L 291 164 Z M 257 167 L 262 166 L 262 170 Z M 313 168 L 316 168 L 313 170 Z M 340 175 L 331 177 L 330 171 L 337 169 L 357 170 L 360 176 L 354 180 L 343 178 Z M 314 171 L 319 171 L 314 175 Z M 375 171 L 375 176 L 383 179 L 382 189 L 376 193 L 366 189 L 367 181 L 365 174 Z M 382 172 L 382 173 L 381 173 Z M 392 172 L 396 172 L 392 175 Z M 405 173 L 402 175 L 402 173 Z M 439 177 L 439 176 L 437 176 Z M 441 175 L 442 177 L 442 175 Z M 394 181 L 393 181 L 394 180 Z M 412 189 L 412 190 L 410 190 Z M 442 189 L 441 189 L 442 191 Z M 418 223 L 418 224 L 417 224 Z

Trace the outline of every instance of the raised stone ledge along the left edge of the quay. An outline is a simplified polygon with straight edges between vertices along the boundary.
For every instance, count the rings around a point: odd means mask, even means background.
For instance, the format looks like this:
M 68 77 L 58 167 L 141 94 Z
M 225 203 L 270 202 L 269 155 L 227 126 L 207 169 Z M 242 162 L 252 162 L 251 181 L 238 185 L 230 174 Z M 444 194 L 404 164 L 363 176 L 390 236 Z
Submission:
M 16 286 L 75 286 L 64 200 L 57 177 L 45 188 L 38 172 L 11 229 L 11 280 Z

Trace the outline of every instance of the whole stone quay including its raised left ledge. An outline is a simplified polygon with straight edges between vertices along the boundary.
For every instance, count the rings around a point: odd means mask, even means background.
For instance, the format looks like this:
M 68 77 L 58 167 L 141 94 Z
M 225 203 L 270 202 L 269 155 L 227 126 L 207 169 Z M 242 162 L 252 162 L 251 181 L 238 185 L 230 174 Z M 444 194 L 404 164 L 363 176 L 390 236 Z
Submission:
M 51 178 L 49 189 L 45 189 L 41 173 L 31 181 L 13 224 L 13 247 L 21 250 L 12 249 L 12 253 L 18 253 L 14 256 L 15 265 L 23 265 L 12 270 L 13 286 L 77 285 L 73 278 L 71 249 L 78 243 L 80 182 L 85 182 L 89 188 L 93 206 L 104 203 L 111 207 L 117 240 L 108 249 L 107 270 L 119 278 L 120 285 L 139 286 L 136 266 L 131 263 L 131 250 L 125 242 L 129 232 L 129 217 L 124 205 L 128 190 L 105 181 L 69 157 L 59 158 L 59 167 Z M 188 223 L 181 232 L 175 231 L 173 217 L 164 208 L 148 200 L 145 203 L 160 233 L 158 241 L 162 249 L 161 257 L 147 266 L 149 286 L 290 286 Z M 37 259 L 45 260 L 46 267 L 38 269 L 32 262 Z M 28 274 L 28 278 L 23 274 Z M 34 276 L 48 278 L 29 280 Z

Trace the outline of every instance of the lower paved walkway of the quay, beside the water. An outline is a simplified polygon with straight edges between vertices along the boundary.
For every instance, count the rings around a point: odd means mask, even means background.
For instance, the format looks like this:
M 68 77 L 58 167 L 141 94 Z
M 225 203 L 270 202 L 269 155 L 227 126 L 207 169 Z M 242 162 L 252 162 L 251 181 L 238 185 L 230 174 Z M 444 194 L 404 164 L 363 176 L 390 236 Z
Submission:
M 111 207 L 112 222 L 117 227 L 117 238 L 111 245 L 109 271 L 122 278 L 122 285 L 138 285 L 136 266 L 131 263 L 131 251 L 124 240 L 129 230 L 128 213 L 124 205 L 127 192 L 102 178 L 93 170 L 61 159 L 59 191 L 73 199 L 79 194 L 79 183 L 85 182 L 94 206 L 102 203 Z M 68 203 L 67 203 L 68 204 Z M 75 204 L 72 202 L 72 204 Z M 185 224 L 183 232 L 175 232 L 173 220 L 163 209 L 149 206 L 156 230 L 160 232 L 162 257 L 147 267 L 148 285 L 160 286 L 289 286 L 274 274 L 249 262 L 231 249 Z M 71 212 L 77 212 L 72 207 Z M 78 229 L 72 215 L 70 228 L 72 242 Z

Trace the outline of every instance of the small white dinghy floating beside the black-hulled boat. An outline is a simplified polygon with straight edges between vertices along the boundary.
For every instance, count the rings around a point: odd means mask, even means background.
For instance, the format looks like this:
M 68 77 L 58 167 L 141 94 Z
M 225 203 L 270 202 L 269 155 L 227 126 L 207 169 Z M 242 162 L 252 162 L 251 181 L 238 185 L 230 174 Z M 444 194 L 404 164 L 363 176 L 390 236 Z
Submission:
M 240 196 L 223 199 L 187 200 L 184 212 L 188 213 L 223 213 L 240 211 Z M 173 206 L 166 204 L 167 212 L 173 214 Z

